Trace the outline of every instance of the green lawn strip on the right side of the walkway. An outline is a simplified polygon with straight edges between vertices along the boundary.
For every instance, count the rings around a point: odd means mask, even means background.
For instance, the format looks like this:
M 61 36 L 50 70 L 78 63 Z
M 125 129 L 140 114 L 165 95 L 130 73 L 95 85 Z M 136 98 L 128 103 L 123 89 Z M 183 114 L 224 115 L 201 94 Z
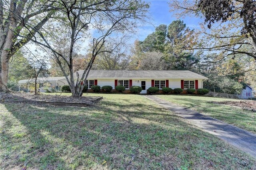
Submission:
M 238 101 L 236 99 L 189 95 L 157 95 L 157 97 L 256 133 L 256 112 L 211 103 L 218 101 Z

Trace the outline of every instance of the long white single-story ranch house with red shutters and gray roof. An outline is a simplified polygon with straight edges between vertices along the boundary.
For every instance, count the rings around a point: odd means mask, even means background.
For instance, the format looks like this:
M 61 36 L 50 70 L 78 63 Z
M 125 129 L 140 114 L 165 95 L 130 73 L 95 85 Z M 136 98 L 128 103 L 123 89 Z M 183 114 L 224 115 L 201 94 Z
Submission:
M 80 77 L 83 72 L 83 70 L 78 71 Z M 76 77 L 76 73 L 74 77 Z M 187 70 L 90 70 L 84 83 L 88 85 L 88 89 L 92 85 L 99 85 L 100 87 L 109 85 L 113 89 L 117 85 L 123 85 L 127 90 L 131 86 L 140 86 L 142 87 L 141 93 L 146 94 L 149 87 L 201 89 L 203 88 L 203 81 L 206 79 L 208 78 Z M 66 81 L 65 78 L 64 80 Z M 58 83 L 58 80 L 56 80 L 56 83 Z

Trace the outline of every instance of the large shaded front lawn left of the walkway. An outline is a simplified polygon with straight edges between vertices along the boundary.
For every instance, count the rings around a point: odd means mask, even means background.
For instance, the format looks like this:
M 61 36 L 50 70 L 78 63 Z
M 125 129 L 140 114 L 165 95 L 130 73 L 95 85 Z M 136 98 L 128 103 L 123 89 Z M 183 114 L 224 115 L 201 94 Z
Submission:
M 86 95 L 104 99 L 92 107 L 1 103 L 1 169 L 256 168 L 141 95 Z

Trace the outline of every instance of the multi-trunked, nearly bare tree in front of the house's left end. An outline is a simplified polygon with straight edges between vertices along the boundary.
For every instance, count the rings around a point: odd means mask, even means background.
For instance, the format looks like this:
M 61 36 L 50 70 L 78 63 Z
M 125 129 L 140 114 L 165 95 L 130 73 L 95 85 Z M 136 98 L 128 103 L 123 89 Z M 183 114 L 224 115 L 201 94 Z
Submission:
M 149 6 L 140 0 L 89 2 L 86 0 L 60 0 L 58 6 L 60 6 L 60 12 L 58 18 L 52 20 L 54 22 L 52 29 L 38 30 L 38 35 L 43 42 L 36 38 L 33 41 L 50 49 L 68 81 L 72 96 L 78 97 L 82 95 L 84 87 L 82 82 L 87 79 L 96 56 L 113 50 L 105 50 L 104 45 L 114 42 L 115 37 L 134 33 L 137 24 L 145 22 L 144 18 Z M 61 41 L 66 44 L 65 48 L 68 49 L 68 53 L 62 51 L 63 48 L 58 39 L 60 34 L 56 34 L 57 29 L 64 37 Z M 93 32 L 89 34 L 90 31 Z M 84 68 L 84 73 L 75 75 L 73 71 L 74 54 L 82 48 L 81 44 L 84 39 L 90 40 L 91 59 Z M 114 49 L 118 44 L 120 43 L 117 43 Z M 64 62 L 62 62 L 63 60 Z M 64 72 L 64 65 L 68 65 L 70 77 Z

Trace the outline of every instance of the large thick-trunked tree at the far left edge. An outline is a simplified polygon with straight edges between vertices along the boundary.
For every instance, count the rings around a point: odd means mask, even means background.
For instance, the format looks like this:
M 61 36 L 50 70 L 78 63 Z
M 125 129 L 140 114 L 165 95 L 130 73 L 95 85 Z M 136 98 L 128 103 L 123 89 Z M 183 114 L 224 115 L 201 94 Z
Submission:
M 0 91 L 8 91 L 10 58 L 56 12 L 54 4 L 48 0 L 0 0 Z

